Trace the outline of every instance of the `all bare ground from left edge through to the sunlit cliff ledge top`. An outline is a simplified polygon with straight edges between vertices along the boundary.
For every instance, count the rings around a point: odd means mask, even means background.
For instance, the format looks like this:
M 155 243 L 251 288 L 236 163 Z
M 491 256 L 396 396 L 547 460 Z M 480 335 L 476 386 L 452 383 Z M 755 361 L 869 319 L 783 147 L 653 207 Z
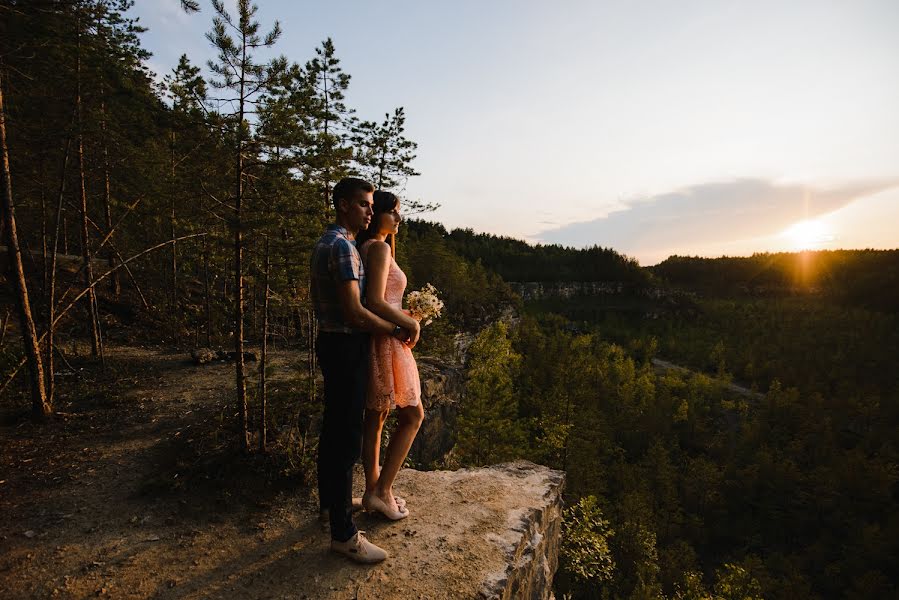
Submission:
M 301 361 L 272 358 L 281 374 Z M 309 472 L 283 451 L 233 450 L 233 364 L 133 347 L 108 362 L 105 378 L 61 382 L 49 422 L 18 411 L 0 424 L 4 599 L 477 597 L 505 566 L 485 539 L 535 503 L 515 482 L 404 470 L 417 514 L 360 515 L 391 558 L 355 565 L 326 550 Z

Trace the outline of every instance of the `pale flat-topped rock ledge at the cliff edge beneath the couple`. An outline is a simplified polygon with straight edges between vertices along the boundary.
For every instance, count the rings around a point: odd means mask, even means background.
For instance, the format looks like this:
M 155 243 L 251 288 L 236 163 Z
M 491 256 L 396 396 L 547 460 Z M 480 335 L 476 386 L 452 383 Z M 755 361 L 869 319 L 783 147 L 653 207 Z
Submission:
M 400 472 L 410 516 L 357 525 L 390 558 L 360 567 L 318 544 L 294 556 L 307 598 L 549 599 L 558 565 L 564 475 L 519 461 L 459 471 Z M 299 573 L 298 573 L 299 575 Z

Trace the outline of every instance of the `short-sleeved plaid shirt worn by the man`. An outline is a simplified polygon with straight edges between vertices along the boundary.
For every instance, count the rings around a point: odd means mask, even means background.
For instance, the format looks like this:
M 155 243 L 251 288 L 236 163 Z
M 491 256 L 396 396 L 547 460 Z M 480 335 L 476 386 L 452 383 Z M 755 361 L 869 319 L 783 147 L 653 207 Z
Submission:
M 365 297 L 365 267 L 356 242 L 347 238 L 346 229 L 328 225 L 312 250 L 310 272 L 312 306 L 319 331 L 359 333 L 360 330 L 347 324 L 337 297 L 337 284 L 350 280 L 359 282 L 359 297 Z

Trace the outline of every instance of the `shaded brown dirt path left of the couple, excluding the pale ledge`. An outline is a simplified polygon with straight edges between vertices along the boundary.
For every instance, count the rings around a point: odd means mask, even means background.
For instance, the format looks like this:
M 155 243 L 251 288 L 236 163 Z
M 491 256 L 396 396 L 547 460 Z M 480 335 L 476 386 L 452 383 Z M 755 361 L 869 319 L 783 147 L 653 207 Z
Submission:
M 112 393 L 82 390 L 50 423 L 0 428 L 0 596 L 229 597 L 263 557 L 321 543 L 307 487 L 216 446 L 233 365 L 138 348 L 109 360 L 121 373 Z M 296 360 L 273 357 L 282 372 Z M 241 581 L 255 597 L 301 597 Z

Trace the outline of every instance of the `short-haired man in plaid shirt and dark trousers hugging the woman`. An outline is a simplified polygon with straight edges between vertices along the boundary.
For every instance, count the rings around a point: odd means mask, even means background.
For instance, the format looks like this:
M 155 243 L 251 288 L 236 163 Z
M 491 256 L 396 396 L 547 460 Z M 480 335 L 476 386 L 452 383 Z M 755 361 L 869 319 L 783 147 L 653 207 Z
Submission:
M 418 340 L 420 328 L 407 331 L 366 310 L 365 269 L 355 237 L 372 217 L 374 186 L 363 179 L 341 179 L 332 192 L 335 223 L 312 251 L 312 304 L 318 321 L 315 351 L 325 377 L 325 414 L 318 445 L 318 492 L 328 510 L 331 550 L 363 563 L 379 562 L 387 552 L 356 529 L 352 517 L 353 465 L 362 451 L 362 415 L 368 378 L 371 333 Z

